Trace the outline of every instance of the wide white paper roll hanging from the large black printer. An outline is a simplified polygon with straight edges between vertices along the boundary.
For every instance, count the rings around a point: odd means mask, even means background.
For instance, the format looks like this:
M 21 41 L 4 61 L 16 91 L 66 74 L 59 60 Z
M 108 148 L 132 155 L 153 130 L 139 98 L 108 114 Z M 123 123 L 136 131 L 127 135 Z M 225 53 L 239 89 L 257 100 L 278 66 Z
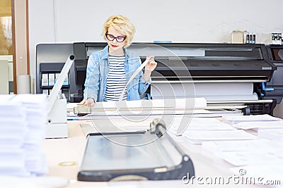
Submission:
M 152 83 L 152 99 L 203 97 L 207 101 L 258 100 L 252 82 Z

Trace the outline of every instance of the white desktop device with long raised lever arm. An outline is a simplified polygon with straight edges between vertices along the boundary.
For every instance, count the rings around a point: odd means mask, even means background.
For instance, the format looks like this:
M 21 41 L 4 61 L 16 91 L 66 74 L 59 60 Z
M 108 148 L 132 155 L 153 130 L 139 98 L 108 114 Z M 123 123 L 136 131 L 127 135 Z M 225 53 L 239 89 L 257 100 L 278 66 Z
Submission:
M 67 125 L 67 99 L 64 94 L 59 94 L 66 75 L 74 62 L 74 56 L 67 59 L 62 71 L 54 84 L 52 92 L 47 100 L 47 123 L 45 138 L 64 138 L 68 137 Z

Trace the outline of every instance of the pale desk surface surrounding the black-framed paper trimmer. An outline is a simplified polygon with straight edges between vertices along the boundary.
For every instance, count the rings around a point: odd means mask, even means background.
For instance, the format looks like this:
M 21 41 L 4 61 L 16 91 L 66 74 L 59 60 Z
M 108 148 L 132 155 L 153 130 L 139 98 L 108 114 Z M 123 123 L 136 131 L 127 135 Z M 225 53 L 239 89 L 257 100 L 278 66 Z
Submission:
M 91 123 L 90 120 L 69 121 L 69 138 L 66 139 L 45 139 L 44 151 L 49 165 L 47 176 L 64 177 L 69 180 L 68 187 L 200 187 L 200 184 L 184 184 L 182 180 L 166 181 L 128 181 L 128 182 L 79 182 L 76 175 L 79 172 L 83 152 L 86 146 L 86 137 L 81 131 L 80 124 Z M 221 158 L 202 149 L 201 145 L 184 142 L 182 137 L 172 136 L 180 144 L 186 153 L 192 158 L 195 165 L 196 177 L 224 177 L 234 175 L 229 170 L 233 166 Z M 59 163 L 74 161 L 71 166 L 60 166 Z M 207 184 L 203 186 L 207 187 Z M 227 187 L 256 187 L 250 184 L 229 184 Z M 219 184 L 209 187 L 219 187 Z

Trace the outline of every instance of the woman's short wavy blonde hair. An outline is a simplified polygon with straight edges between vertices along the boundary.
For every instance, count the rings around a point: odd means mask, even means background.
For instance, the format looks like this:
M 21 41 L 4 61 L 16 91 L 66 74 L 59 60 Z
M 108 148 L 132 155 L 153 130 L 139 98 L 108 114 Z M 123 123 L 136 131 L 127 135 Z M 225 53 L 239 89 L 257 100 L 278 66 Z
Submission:
M 111 15 L 103 25 L 103 38 L 106 39 L 106 33 L 109 27 L 114 27 L 115 30 L 126 36 L 125 48 L 131 45 L 132 39 L 134 38 L 134 32 L 136 32 L 134 25 L 129 21 L 129 18 L 123 15 Z

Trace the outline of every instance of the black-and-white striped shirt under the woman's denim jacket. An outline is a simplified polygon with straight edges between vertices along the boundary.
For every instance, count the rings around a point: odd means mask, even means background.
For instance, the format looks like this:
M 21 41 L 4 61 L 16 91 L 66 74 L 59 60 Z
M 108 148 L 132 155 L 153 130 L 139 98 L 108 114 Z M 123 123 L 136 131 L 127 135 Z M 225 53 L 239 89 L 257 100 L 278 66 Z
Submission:
M 109 73 L 106 83 L 104 101 L 119 101 L 120 95 L 127 84 L 125 73 L 125 56 L 109 56 Z M 123 100 L 127 100 L 127 89 L 123 94 Z

